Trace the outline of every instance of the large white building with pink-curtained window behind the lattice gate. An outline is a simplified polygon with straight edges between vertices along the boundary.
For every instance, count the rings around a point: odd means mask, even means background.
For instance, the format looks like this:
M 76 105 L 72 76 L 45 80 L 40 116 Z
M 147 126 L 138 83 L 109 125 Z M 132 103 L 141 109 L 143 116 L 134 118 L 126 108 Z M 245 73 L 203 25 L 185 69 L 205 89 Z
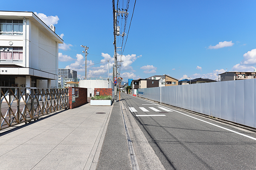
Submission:
M 58 87 L 63 40 L 33 12 L 0 11 L 0 86 Z

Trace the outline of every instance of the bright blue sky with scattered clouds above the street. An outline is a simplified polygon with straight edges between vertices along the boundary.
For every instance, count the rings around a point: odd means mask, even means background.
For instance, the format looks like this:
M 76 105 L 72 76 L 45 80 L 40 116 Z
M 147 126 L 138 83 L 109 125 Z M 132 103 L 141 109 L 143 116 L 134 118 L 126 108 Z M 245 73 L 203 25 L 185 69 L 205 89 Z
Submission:
M 124 3 L 126 6 L 127 1 Z M 134 0 L 130 0 L 126 34 L 133 7 Z M 127 81 L 169 74 L 177 79 L 218 79 L 226 69 L 253 71 L 255 9 L 255 0 L 137 0 L 121 77 Z M 85 56 L 80 45 L 87 45 L 87 78 L 108 77 L 108 62 L 104 62 L 108 59 L 112 76 L 111 0 L 9 0 L 0 10 L 32 11 L 47 25 L 54 24 L 65 43 L 59 46 L 59 68 L 77 70 L 84 77 Z

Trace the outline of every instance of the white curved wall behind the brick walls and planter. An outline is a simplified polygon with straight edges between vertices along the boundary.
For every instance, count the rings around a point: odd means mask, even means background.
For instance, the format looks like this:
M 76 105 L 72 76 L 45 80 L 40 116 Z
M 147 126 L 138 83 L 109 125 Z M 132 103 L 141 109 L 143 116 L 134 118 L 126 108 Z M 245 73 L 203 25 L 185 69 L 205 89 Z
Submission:
M 80 80 L 80 88 L 87 88 L 87 96 L 94 96 L 94 88 L 108 88 L 108 80 Z M 109 81 L 109 88 L 113 89 L 113 82 Z

